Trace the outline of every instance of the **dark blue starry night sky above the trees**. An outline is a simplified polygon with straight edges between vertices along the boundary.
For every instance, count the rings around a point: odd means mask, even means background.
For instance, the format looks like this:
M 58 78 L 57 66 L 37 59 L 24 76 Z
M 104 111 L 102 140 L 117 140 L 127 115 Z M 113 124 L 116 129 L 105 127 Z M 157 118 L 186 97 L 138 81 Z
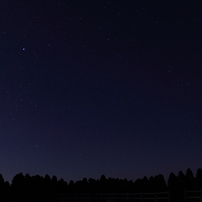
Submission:
M 195 174 L 201 11 L 197 0 L 1 0 L 4 179 Z

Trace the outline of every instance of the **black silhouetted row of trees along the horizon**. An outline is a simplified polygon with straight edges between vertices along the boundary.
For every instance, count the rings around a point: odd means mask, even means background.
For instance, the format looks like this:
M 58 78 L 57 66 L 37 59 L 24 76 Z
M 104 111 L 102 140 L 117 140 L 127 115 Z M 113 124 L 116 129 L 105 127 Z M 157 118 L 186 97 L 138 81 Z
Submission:
M 83 178 L 79 181 L 67 183 L 56 176 L 50 177 L 46 174 L 30 176 L 19 173 L 14 176 L 11 184 L 4 181 L 0 174 L 0 201 L 25 201 L 41 200 L 47 196 L 56 196 L 62 193 L 149 193 L 169 191 L 172 201 L 182 201 L 184 190 L 198 190 L 202 188 L 202 169 L 199 168 L 194 176 L 191 169 L 184 174 L 179 171 L 177 175 L 173 172 L 165 181 L 163 175 L 159 174 L 150 178 L 143 177 L 136 181 L 118 178 L 106 178 L 102 175 L 100 179 Z

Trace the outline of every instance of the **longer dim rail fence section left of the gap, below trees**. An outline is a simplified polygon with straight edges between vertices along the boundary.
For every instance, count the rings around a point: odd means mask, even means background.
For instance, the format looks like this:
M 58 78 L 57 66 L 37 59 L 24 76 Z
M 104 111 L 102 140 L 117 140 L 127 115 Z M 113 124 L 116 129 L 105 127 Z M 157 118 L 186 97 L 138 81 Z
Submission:
M 57 202 L 169 202 L 169 192 L 63 194 Z

